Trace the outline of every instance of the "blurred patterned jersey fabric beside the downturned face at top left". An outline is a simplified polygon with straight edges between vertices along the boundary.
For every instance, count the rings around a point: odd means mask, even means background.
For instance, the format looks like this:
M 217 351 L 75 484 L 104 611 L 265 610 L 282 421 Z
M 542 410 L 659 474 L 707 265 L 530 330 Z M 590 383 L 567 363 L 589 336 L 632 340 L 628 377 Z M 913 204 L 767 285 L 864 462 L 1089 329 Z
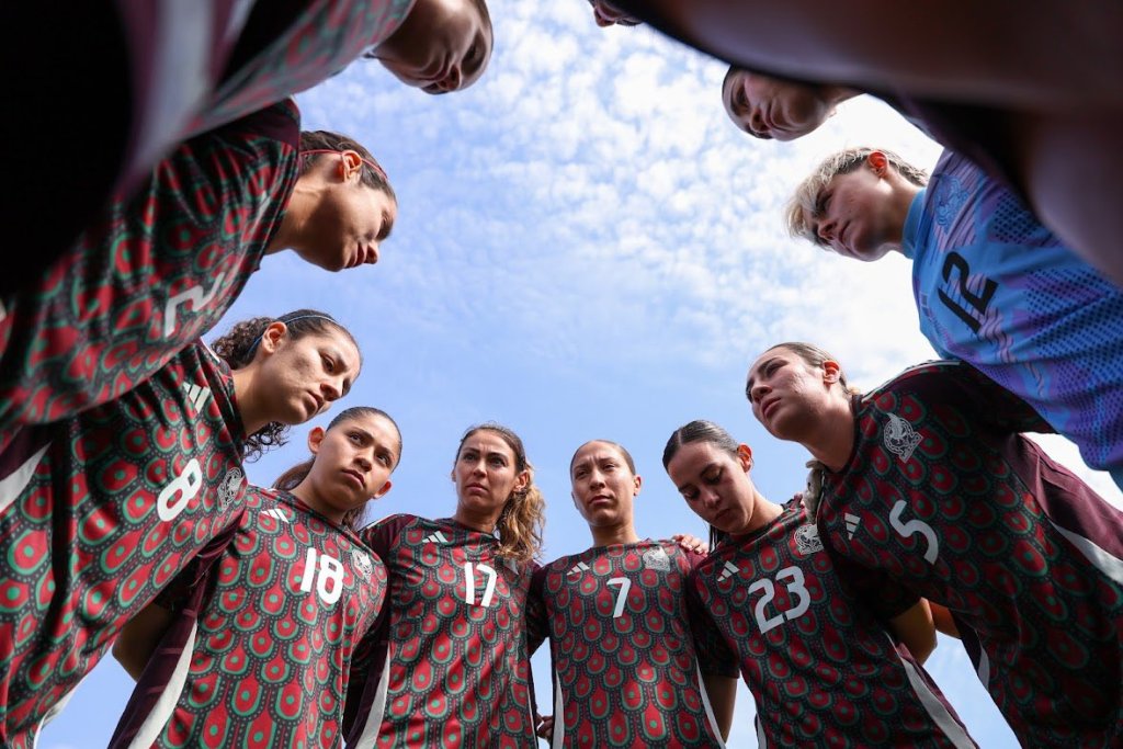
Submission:
M 256 3 L 225 80 L 192 125 L 212 129 L 343 71 L 387 39 L 414 0 L 312 0 Z

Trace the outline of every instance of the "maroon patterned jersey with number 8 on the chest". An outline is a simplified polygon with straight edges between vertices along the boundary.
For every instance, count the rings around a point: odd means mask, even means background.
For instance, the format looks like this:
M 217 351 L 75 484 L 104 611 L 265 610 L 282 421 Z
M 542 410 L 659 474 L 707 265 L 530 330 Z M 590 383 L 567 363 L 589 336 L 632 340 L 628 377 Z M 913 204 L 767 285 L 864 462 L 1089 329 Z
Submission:
M 0 743 L 34 742 L 130 618 L 241 513 L 230 369 L 201 341 L 0 453 Z

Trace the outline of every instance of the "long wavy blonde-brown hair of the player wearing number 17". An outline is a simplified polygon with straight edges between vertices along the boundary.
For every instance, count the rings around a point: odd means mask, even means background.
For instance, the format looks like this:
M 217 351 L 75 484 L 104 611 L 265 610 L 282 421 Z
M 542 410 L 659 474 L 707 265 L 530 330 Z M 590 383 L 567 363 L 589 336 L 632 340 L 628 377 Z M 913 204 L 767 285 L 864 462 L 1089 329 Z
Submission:
M 478 431 L 499 435 L 514 453 L 515 472 L 526 471 L 528 475 L 527 485 L 520 491 L 511 492 L 495 522 L 495 530 L 499 531 L 499 556 L 518 563 L 537 559 L 542 550 L 542 533 L 546 530 L 546 499 L 535 485 L 535 467 L 527 459 L 522 439 L 503 424 L 489 421 L 471 427 L 464 432 L 456 448 L 457 456 L 460 455 L 465 440 Z

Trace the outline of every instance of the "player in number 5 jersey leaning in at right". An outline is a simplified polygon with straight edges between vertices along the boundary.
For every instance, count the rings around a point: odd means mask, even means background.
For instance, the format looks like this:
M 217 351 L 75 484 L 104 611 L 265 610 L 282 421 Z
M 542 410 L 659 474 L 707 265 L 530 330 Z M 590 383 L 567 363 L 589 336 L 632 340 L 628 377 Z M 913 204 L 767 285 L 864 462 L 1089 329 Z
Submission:
M 1048 431 L 1032 409 L 959 362 L 858 395 L 794 342 L 754 362 L 746 395 L 818 462 L 823 542 L 950 611 L 1024 746 L 1120 745 L 1123 513 L 1020 433 Z

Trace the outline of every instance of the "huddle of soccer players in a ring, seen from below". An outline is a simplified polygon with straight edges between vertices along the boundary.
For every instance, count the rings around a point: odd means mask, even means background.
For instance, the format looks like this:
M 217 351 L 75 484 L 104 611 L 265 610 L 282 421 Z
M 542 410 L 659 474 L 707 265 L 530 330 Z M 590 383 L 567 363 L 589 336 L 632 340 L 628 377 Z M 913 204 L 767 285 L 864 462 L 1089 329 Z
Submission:
M 203 90 L 159 110 L 161 82 L 130 79 L 131 145 L 72 197 L 82 226 L 0 289 L 0 745 L 34 747 L 111 652 L 136 679 L 112 747 L 723 747 L 738 679 L 761 747 L 975 747 L 924 668 L 940 631 L 1023 746 L 1123 746 L 1123 513 L 1025 436 L 1067 437 L 1123 488 L 1123 266 L 1103 223 L 1079 230 L 1049 175 L 996 145 L 995 121 L 1025 120 L 748 70 L 718 11 L 592 0 L 601 26 L 650 21 L 732 60 L 721 99 L 754 136 L 800 137 L 874 93 L 947 146 L 931 175 L 884 148 L 831 154 L 784 217 L 843 256 L 909 258 L 943 358 L 859 392 L 820 346 L 760 350 L 731 386 L 810 473 L 773 501 L 750 446 L 676 429 L 665 481 L 707 542 L 641 538 L 645 481 L 591 435 L 568 469 L 591 546 L 547 563 L 546 497 L 497 422 L 451 451 L 445 518 L 362 524 L 403 456 L 373 405 L 250 484 L 246 463 L 344 399 L 363 354 L 318 309 L 203 340 L 265 255 L 375 263 L 396 220 L 375 156 L 301 130 L 292 97 L 360 56 L 430 93 L 471 85 L 483 0 L 206 4 L 227 26 L 199 52 Z M 119 12 L 143 66 L 155 21 Z

